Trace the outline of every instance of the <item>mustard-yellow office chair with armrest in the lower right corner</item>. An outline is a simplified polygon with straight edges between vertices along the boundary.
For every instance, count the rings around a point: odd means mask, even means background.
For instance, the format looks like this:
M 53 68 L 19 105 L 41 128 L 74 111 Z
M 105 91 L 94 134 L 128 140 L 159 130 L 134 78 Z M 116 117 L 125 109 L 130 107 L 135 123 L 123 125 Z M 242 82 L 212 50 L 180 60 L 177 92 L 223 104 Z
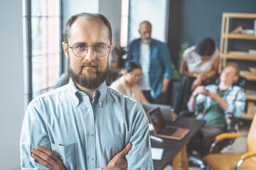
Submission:
M 241 137 L 238 133 L 226 133 L 218 135 L 215 139 L 219 142 L 223 139 Z M 208 154 L 203 157 L 203 162 L 213 170 L 222 169 L 256 169 L 256 113 L 250 125 L 247 135 L 247 151 L 245 154 Z

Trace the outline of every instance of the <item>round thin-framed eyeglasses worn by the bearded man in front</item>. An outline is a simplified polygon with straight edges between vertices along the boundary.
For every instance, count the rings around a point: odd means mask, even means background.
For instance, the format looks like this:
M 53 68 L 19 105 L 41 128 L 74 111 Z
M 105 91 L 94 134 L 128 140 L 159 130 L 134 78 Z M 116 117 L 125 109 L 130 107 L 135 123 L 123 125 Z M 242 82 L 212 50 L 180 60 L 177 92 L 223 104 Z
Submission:
M 68 44 L 68 43 L 67 43 Z M 77 42 L 72 47 L 72 52 L 77 57 L 83 57 L 87 54 L 89 47 L 92 47 L 92 52 L 97 57 L 103 57 L 107 55 L 107 52 L 110 50 L 110 45 L 107 45 L 105 42 L 97 42 L 94 45 L 86 45 L 84 42 Z

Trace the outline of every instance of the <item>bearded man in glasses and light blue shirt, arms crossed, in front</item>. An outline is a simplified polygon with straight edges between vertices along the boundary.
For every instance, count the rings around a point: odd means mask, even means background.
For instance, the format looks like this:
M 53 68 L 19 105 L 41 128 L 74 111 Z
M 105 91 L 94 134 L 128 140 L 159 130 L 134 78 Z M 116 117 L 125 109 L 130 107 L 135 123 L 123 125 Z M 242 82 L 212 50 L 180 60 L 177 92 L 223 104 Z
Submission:
M 142 106 L 106 86 L 112 47 L 105 16 L 68 20 L 63 51 L 70 82 L 28 105 L 22 169 L 153 169 Z

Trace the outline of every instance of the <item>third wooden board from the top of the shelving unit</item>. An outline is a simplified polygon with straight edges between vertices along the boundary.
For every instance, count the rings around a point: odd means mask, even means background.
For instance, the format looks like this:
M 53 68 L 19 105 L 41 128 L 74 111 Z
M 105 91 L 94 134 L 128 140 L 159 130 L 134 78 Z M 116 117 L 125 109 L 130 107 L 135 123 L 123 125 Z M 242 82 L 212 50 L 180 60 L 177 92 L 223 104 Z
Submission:
M 256 61 L 255 54 L 249 54 L 249 52 L 238 52 L 238 51 L 230 51 L 226 54 L 220 54 L 220 57 L 233 59 L 233 60 L 253 60 Z

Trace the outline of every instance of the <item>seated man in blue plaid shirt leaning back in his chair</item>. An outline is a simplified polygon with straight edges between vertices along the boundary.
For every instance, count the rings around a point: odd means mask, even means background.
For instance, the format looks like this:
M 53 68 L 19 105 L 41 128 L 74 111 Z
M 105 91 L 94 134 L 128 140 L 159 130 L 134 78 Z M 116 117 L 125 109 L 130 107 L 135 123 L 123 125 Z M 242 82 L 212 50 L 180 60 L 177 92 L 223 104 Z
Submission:
M 220 74 L 220 83 L 198 86 L 188 100 L 188 111 L 195 112 L 197 118 L 206 120 L 201 128 L 201 142 L 191 142 L 189 147 L 202 155 L 208 154 L 215 137 L 230 128 L 232 120 L 240 118 L 245 111 L 245 91 L 234 86 L 238 81 L 240 68 L 229 62 Z M 198 113 L 202 110 L 202 113 Z

